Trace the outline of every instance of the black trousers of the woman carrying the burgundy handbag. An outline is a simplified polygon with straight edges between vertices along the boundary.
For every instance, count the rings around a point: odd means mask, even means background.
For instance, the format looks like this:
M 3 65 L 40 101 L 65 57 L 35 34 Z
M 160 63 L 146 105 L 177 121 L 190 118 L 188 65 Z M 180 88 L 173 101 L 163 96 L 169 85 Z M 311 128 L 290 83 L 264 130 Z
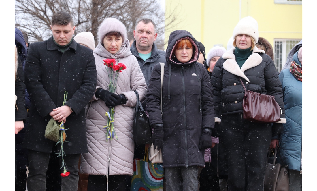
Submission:
M 219 141 L 228 155 L 228 191 L 262 191 L 271 123 L 224 116 Z

